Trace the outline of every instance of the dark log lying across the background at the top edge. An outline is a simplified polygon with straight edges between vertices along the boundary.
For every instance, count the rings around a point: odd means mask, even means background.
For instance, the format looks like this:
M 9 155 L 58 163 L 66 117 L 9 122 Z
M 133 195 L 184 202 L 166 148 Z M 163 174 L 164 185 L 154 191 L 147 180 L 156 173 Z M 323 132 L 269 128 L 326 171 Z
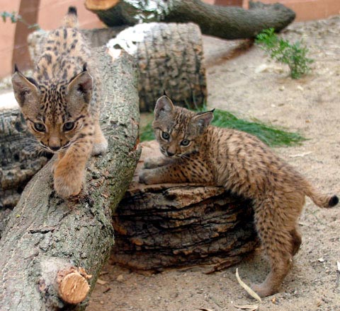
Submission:
M 196 23 L 205 35 L 223 39 L 255 37 L 261 30 L 283 30 L 295 13 L 283 4 L 249 2 L 237 6 L 212 6 L 200 0 L 86 0 L 85 6 L 109 27 L 150 22 Z

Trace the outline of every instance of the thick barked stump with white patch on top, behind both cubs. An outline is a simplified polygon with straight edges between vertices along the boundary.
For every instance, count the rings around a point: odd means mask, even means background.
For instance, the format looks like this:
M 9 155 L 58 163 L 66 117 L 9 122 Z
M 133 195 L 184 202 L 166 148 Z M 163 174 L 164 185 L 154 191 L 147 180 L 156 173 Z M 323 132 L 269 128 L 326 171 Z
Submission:
M 207 83 L 200 28 L 193 23 L 144 23 L 108 42 L 137 60 L 140 111 L 152 111 L 164 90 L 177 105 L 202 107 Z

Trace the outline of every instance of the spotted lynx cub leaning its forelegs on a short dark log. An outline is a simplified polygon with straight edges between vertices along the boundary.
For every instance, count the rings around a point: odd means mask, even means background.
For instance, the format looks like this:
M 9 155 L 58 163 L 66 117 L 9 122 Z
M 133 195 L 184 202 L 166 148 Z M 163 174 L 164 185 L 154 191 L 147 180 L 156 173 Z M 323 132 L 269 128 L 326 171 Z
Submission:
M 159 98 L 152 127 L 166 157 L 150 158 L 140 182 L 218 185 L 252 199 L 256 230 L 271 264 L 266 281 L 253 289 L 262 297 L 273 295 L 301 244 L 297 220 L 305 196 L 324 208 L 339 199 L 317 192 L 256 137 L 212 127 L 212 117 L 212 111 L 196 114 L 175 107 L 165 95 Z

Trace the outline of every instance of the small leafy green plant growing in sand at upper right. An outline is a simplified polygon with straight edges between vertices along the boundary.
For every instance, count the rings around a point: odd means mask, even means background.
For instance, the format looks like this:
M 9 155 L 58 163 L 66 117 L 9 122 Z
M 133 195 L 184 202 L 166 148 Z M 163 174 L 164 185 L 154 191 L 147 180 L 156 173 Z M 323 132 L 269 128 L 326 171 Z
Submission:
M 288 64 L 290 76 L 300 78 L 310 71 L 312 59 L 307 58 L 307 47 L 302 42 L 297 41 L 290 44 L 288 40 L 278 38 L 274 28 L 263 30 L 256 36 L 256 44 L 260 45 L 272 59 L 276 59 L 283 64 Z

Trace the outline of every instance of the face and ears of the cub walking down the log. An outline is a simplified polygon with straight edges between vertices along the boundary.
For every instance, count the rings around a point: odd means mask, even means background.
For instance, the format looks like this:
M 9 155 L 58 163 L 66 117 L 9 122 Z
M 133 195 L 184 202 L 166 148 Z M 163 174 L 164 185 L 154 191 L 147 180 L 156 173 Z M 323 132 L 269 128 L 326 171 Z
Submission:
M 29 131 L 46 151 L 56 153 L 67 149 L 86 124 L 91 100 L 92 78 L 84 71 L 68 85 L 40 84 L 23 76 L 18 69 L 13 75 L 16 100 Z

